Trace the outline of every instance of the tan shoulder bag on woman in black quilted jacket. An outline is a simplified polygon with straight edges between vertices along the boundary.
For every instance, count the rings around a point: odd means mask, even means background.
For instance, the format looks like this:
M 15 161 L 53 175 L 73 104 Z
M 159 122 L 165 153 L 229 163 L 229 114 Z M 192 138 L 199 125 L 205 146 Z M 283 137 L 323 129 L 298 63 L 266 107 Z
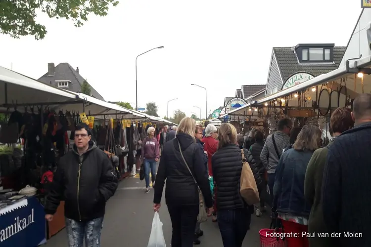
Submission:
M 245 158 L 243 149 L 241 149 L 241 155 L 242 170 L 239 193 L 247 205 L 254 205 L 260 202 L 258 187 L 256 186 L 254 173 L 252 172 L 251 167 Z

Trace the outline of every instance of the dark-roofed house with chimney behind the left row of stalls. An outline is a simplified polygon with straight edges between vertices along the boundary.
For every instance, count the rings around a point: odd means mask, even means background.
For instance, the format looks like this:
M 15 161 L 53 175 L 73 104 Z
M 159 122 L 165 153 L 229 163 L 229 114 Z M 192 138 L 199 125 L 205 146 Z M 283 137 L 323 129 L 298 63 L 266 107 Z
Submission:
M 38 81 L 69 91 L 81 92 L 81 85 L 85 79 L 80 75 L 79 67 L 75 70 L 68 63 L 60 63 L 57 66 L 54 66 L 54 63 L 48 63 L 46 74 L 40 77 Z M 90 88 L 90 96 L 104 100 L 92 85 L 90 85 Z

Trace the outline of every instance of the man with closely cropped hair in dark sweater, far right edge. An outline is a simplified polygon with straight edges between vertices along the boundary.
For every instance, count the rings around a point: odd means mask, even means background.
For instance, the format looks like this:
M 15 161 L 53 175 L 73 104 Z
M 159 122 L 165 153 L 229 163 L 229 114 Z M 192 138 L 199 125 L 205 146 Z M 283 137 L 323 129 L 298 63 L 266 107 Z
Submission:
M 331 246 L 371 247 L 371 94 L 354 100 L 352 118 L 355 127 L 328 150 L 322 209 L 329 233 L 338 234 Z

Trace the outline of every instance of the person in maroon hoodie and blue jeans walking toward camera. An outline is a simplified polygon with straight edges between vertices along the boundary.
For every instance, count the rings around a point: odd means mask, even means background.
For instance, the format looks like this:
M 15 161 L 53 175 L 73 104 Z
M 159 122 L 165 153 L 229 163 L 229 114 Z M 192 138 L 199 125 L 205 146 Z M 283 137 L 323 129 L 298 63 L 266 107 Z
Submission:
M 156 178 L 156 163 L 160 158 L 160 150 L 158 141 L 155 135 L 155 128 L 149 127 L 147 129 L 148 136 L 143 140 L 143 147 L 141 149 L 141 156 L 144 159 L 144 174 L 145 174 L 145 193 L 149 192 L 149 170 L 152 175 L 152 187 Z

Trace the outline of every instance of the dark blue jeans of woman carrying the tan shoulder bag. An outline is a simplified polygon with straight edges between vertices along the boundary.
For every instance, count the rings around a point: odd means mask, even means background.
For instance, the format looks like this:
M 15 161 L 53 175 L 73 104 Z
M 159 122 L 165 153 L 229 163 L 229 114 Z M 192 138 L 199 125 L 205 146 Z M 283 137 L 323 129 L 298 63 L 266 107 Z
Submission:
M 218 210 L 218 225 L 224 247 L 241 247 L 250 229 L 251 212 L 248 208 Z

